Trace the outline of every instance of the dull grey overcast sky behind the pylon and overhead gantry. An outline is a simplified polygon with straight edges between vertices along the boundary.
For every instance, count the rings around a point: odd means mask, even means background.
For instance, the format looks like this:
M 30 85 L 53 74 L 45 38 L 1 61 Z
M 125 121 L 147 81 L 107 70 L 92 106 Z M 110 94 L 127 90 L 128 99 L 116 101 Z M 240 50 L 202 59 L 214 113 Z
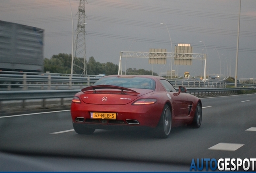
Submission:
M 76 30 L 79 0 L 70 0 Z M 206 73 L 235 75 L 239 0 L 87 0 L 85 2 L 87 60 L 119 64 L 120 51 L 148 52 L 179 43 L 190 44 L 193 53 L 207 53 Z M 69 0 L 1 0 L 0 20 L 45 30 L 44 57 L 72 52 Z M 165 23 L 165 24 L 160 24 Z M 167 26 L 167 28 L 166 28 Z M 242 0 L 238 78 L 256 78 L 256 0 Z M 136 40 L 136 42 L 135 42 Z M 201 41 L 201 42 L 200 42 Z M 204 46 L 204 44 L 205 46 Z M 205 49 L 206 47 L 206 49 Z M 204 50 L 202 50 L 204 49 Z M 214 50 L 215 49 L 215 50 Z M 219 55 L 218 55 L 219 52 Z M 167 64 L 153 71 L 166 72 Z M 124 70 L 125 59 L 122 60 Z M 128 58 L 127 68 L 152 70 L 148 59 Z M 220 68 L 221 66 L 221 68 Z M 228 71 L 227 71 L 228 68 Z M 183 75 L 198 76 L 202 61 L 192 66 L 173 65 Z

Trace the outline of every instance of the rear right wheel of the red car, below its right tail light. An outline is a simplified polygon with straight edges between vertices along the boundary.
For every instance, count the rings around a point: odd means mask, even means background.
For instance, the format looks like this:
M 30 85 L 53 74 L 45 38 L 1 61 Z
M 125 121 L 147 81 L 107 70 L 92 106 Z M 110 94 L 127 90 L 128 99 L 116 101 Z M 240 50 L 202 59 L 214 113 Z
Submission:
M 165 105 L 160 118 L 160 121 L 155 129 L 155 137 L 167 138 L 171 131 L 171 110 L 168 105 Z

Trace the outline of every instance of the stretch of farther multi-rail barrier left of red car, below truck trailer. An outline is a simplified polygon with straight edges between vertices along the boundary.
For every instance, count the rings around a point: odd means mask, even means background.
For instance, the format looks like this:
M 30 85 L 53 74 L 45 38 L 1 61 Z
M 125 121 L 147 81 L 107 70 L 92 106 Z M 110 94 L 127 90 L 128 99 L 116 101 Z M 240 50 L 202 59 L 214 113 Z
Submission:
M 0 72 L 0 87 L 11 90 L 11 88 L 19 88 L 23 90 L 31 89 L 73 89 L 72 85 L 76 88 L 84 88 L 94 84 L 99 80 L 97 75 L 77 75 L 77 74 L 54 74 L 54 73 L 31 73 L 26 72 L 19 74 L 14 72 Z

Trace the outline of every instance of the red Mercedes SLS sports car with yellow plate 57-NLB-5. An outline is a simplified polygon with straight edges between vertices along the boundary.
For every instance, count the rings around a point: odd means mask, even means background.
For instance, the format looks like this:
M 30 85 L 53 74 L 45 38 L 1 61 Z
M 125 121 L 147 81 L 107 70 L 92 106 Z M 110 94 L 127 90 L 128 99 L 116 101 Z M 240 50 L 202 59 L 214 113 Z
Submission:
M 202 122 L 202 102 L 159 76 L 111 75 L 100 78 L 72 99 L 71 116 L 78 134 L 95 129 L 152 129 L 167 138 L 171 127 Z

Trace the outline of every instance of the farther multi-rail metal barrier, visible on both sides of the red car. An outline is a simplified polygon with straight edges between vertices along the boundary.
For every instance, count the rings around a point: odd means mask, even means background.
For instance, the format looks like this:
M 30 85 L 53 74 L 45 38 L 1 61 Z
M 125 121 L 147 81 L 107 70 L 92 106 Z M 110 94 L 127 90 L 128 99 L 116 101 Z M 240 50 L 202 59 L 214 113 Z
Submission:
M 17 72 L 16 72 L 17 73 Z M 50 73 L 24 73 L 2 74 L 0 72 L 1 90 L 53 90 L 53 89 L 82 89 L 93 85 L 99 76 L 96 75 L 70 75 Z M 225 88 L 226 82 L 221 81 L 195 81 L 195 80 L 170 80 L 174 87 L 187 88 Z

